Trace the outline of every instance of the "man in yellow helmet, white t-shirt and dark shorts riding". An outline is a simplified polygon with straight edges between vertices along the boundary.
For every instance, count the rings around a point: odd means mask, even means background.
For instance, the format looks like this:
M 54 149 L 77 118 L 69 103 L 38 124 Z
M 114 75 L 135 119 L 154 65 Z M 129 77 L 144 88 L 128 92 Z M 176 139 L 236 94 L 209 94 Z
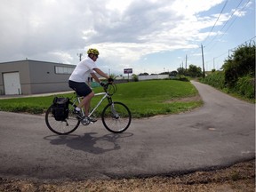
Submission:
M 96 76 L 95 73 L 107 78 L 108 83 L 112 83 L 113 79 L 96 66 L 95 61 L 98 59 L 100 54 L 97 49 L 90 48 L 88 49 L 87 54 L 88 56 L 76 65 L 76 68 L 68 79 L 68 85 L 71 89 L 75 90 L 79 96 L 84 97 L 84 99 L 75 108 L 74 113 L 78 116 L 78 118 L 82 119 L 83 117 L 81 116 L 81 108 L 84 107 L 85 120 L 95 122 L 96 120 L 88 117 L 90 102 L 94 96 L 94 92 L 92 92 L 92 89 L 86 80 L 90 78 L 91 75 L 92 78 L 94 78 L 95 81 L 98 82 L 101 86 L 105 86 L 104 83 L 100 82 L 100 79 L 98 76 Z

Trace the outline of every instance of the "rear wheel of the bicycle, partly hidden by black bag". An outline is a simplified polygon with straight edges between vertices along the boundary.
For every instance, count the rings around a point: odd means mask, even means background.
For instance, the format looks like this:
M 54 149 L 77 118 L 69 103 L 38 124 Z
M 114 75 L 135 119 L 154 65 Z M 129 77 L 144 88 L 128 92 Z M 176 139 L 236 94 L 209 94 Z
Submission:
M 73 114 L 74 107 L 68 105 L 68 118 L 64 121 L 56 121 L 52 115 L 52 106 L 47 109 L 45 114 L 45 123 L 47 127 L 54 133 L 59 135 L 67 135 L 71 132 L 74 132 L 80 124 L 80 121 L 76 118 L 76 115 Z

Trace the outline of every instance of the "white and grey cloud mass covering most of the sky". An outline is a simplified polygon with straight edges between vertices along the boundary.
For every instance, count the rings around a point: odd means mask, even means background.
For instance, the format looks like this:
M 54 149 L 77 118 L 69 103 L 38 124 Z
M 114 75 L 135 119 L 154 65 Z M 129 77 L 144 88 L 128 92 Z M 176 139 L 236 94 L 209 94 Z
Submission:
M 123 68 L 148 54 L 197 47 L 208 35 L 202 29 L 218 17 L 200 13 L 224 0 L 3 1 L 0 62 L 28 58 L 76 64 L 78 52 L 85 55 L 95 47 L 102 66 Z

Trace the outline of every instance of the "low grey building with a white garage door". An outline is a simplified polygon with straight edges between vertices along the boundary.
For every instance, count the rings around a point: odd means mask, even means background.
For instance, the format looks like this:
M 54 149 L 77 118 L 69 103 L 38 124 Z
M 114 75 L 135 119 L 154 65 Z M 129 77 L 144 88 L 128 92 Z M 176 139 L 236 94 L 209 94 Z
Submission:
M 0 63 L 0 94 L 36 94 L 69 91 L 68 77 L 75 65 L 38 60 Z

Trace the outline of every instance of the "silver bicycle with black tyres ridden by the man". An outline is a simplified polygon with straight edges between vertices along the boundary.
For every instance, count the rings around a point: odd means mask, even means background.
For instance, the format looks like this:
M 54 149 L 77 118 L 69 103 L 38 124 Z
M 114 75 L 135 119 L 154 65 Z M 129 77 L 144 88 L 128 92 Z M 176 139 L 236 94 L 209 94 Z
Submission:
M 104 92 L 95 93 L 94 96 L 103 95 L 101 100 L 92 108 L 89 113 L 89 118 L 94 114 L 96 109 L 100 106 L 103 100 L 108 99 L 108 104 L 103 108 L 101 112 L 101 120 L 104 127 L 109 132 L 121 133 L 128 129 L 132 122 L 132 115 L 130 109 L 122 102 L 113 101 L 112 96 L 116 92 L 116 84 L 106 84 Z M 74 92 L 76 94 L 76 92 Z M 80 103 L 83 97 L 76 94 L 76 97 L 68 98 L 68 117 L 61 121 L 56 121 L 52 115 L 53 104 L 47 109 L 45 113 L 45 123 L 47 127 L 54 133 L 59 135 L 67 135 L 71 132 L 75 132 L 79 124 L 93 124 L 92 122 L 79 119 L 76 114 L 73 113 L 74 108 Z M 72 100 L 72 101 L 71 101 Z M 84 116 L 84 108 L 81 108 L 82 116 Z

